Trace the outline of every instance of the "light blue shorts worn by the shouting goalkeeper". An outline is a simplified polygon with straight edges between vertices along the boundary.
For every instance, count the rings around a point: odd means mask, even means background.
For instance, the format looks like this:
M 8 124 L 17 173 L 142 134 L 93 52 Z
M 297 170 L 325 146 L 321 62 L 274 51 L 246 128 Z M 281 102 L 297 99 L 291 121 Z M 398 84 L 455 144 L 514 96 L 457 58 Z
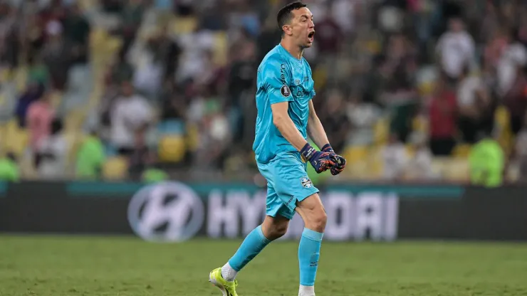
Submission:
M 267 164 L 258 164 L 267 179 L 266 215 L 283 216 L 291 220 L 296 201 L 318 193 L 306 171 L 307 164 L 298 152 L 280 152 Z

